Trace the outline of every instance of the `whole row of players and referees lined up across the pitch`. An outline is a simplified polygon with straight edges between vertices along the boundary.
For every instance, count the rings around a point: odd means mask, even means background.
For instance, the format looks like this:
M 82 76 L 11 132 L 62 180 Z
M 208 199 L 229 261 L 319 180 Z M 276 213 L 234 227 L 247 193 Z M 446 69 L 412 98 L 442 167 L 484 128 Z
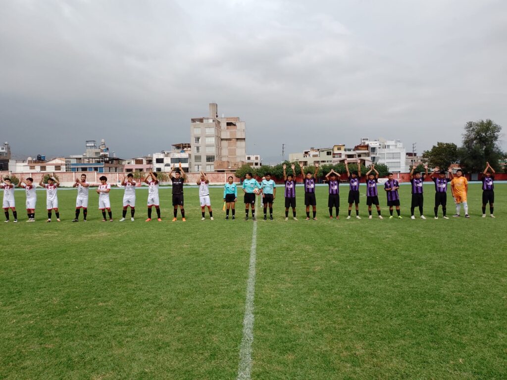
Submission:
M 359 163 L 359 162 L 358 162 Z M 296 217 L 296 171 L 295 165 L 291 165 L 292 174 L 287 173 L 286 165 L 283 165 L 283 181 L 284 181 L 284 198 L 285 198 L 285 220 L 288 220 L 289 209 L 292 208 L 293 219 L 298 220 Z M 419 210 L 419 216 L 421 219 L 426 219 L 423 213 L 423 182 L 426 178 L 430 178 L 434 182 L 435 186 L 435 197 L 434 197 L 434 218 L 438 219 L 438 212 L 440 206 L 442 206 L 442 217 L 448 219 L 447 216 L 447 189 L 450 184 L 451 194 L 453 201 L 456 206 L 456 213 L 454 217 L 461 215 L 461 205 L 463 206 L 465 218 L 469 218 L 468 215 L 468 180 L 463 176 L 460 169 L 457 170 L 456 175 L 452 174 L 449 170 L 449 178 L 446 177 L 446 171 L 440 170 L 440 168 L 434 168 L 432 173 L 428 174 L 428 167 L 425 165 L 425 172 L 414 173 L 416 166 L 414 166 L 410 172 L 410 183 L 411 183 L 411 219 L 415 219 L 414 212 L 416 208 Z M 345 161 L 346 175 L 349 182 L 348 192 L 348 215 L 347 219 L 351 218 L 352 207 L 355 209 L 355 217 L 361 219 L 359 216 L 359 183 L 361 179 L 360 165 L 358 165 L 358 171 L 349 171 L 348 162 Z M 313 174 L 305 174 L 303 167 L 301 167 L 301 175 L 303 177 L 304 185 L 304 203 L 306 211 L 306 220 L 317 220 L 316 214 L 316 197 L 315 197 L 315 186 L 318 178 L 319 165 L 315 164 L 315 172 Z M 174 173 L 174 175 L 172 175 Z M 490 216 L 494 218 L 494 174 L 495 171 L 489 163 L 486 163 L 486 168 L 483 172 L 482 178 L 482 217 L 486 217 L 486 207 L 489 204 Z M 379 173 L 375 169 L 375 165 L 370 166 L 370 170 L 365 174 L 366 176 L 366 204 L 368 206 L 369 218 L 372 218 L 372 206 L 375 205 L 378 218 L 383 219 L 380 209 L 379 194 L 378 194 L 378 179 Z M 185 172 L 183 171 L 181 164 L 179 168 L 174 170 L 174 165 L 171 167 L 168 174 L 172 182 L 172 206 L 173 206 L 173 218 L 172 221 L 177 220 L 178 209 L 182 221 L 186 221 L 185 208 L 184 208 L 184 183 L 185 183 Z M 327 184 L 329 186 L 329 198 L 328 208 L 330 219 L 339 219 L 340 212 L 340 178 L 341 175 L 335 172 L 333 169 L 325 175 Z M 101 176 L 99 178 L 100 184 L 95 189 L 98 194 L 98 209 L 102 213 L 102 221 L 113 221 L 113 212 L 111 209 L 111 202 L 109 193 L 111 191 L 111 183 L 107 183 L 107 177 Z M 150 171 L 148 175 L 142 180 L 148 185 L 148 218 L 147 222 L 152 220 L 152 209 L 155 207 L 157 213 L 157 220 L 162 221 L 160 211 L 160 200 L 159 200 L 159 184 L 160 181 L 157 179 L 157 173 Z M 205 210 L 207 208 L 210 220 L 213 220 L 213 211 L 211 209 L 211 199 L 209 194 L 209 180 L 206 173 L 201 172 L 200 178 L 196 182 L 199 186 L 199 203 L 201 207 L 201 219 L 205 220 Z M 56 221 L 61 221 L 58 210 L 58 196 L 57 190 L 60 186 L 58 179 L 52 175 L 47 179 L 47 183 L 41 179 L 39 182 L 41 187 L 46 189 L 46 209 L 47 209 L 47 222 L 52 221 L 52 213 L 54 211 Z M 130 207 L 130 218 L 134 221 L 135 215 L 135 203 L 136 203 L 136 192 L 135 188 L 137 183 L 134 181 L 133 174 L 129 173 L 124 176 L 121 185 L 124 187 L 123 196 L 123 209 L 122 218 L 120 221 L 125 221 L 127 216 L 128 208 Z M 13 221 L 17 222 L 17 211 L 14 200 L 14 184 L 11 183 L 10 178 L 1 178 L 0 186 L 4 190 L 3 198 L 3 209 L 6 216 L 5 222 L 10 221 L 10 212 L 13 215 Z M 36 185 L 33 183 L 33 178 L 21 178 L 18 187 L 25 189 L 26 193 L 26 213 L 28 219 L 27 222 L 35 221 L 35 206 L 37 203 Z M 76 182 L 73 187 L 77 188 L 78 195 L 76 198 L 76 214 L 73 222 L 77 222 L 80 218 L 81 210 L 83 210 L 83 221 L 87 220 L 88 215 L 88 199 L 89 199 L 89 188 L 90 184 L 87 182 L 86 174 L 81 174 L 80 178 L 76 178 Z M 400 212 L 400 196 L 398 189 L 400 183 L 393 178 L 392 173 L 388 173 L 387 180 L 384 183 L 384 191 L 387 198 L 387 206 L 389 207 L 389 218 L 393 218 L 393 211 L 396 210 L 396 217 L 402 219 Z M 273 203 L 276 199 L 276 183 L 271 178 L 270 173 L 266 173 L 261 182 L 257 179 L 252 178 L 251 173 L 246 173 L 245 179 L 241 185 L 243 191 L 243 201 L 245 204 L 245 220 L 248 220 L 249 214 L 251 219 L 256 220 L 255 206 L 257 196 L 260 196 L 262 201 L 262 208 L 264 213 L 264 220 L 273 220 Z M 234 183 L 232 176 L 228 177 L 227 183 L 224 185 L 224 211 L 226 211 L 226 220 L 229 220 L 229 216 L 232 214 L 232 220 L 235 219 L 235 205 L 238 198 L 238 185 Z M 312 216 L 310 218 L 310 206 L 312 207 Z M 333 209 L 335 209 L 335 216 L 333 216 Z M 107 215 L 106 215 L 107 212 Z

